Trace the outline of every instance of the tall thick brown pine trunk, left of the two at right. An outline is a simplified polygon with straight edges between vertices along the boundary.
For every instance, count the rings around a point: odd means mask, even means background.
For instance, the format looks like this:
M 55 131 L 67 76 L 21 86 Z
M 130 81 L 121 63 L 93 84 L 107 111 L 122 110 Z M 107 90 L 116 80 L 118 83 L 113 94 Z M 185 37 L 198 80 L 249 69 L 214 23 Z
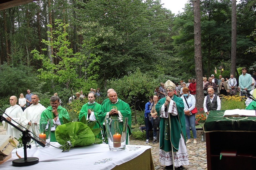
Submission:
M 202 54 L 201 54 L 201 22 L 199 0 L 193 0 L 194 7 L 194 48 L 195 48 L 195 76 L 196 76 L 196 107 L 203 107 L 202 82 Z

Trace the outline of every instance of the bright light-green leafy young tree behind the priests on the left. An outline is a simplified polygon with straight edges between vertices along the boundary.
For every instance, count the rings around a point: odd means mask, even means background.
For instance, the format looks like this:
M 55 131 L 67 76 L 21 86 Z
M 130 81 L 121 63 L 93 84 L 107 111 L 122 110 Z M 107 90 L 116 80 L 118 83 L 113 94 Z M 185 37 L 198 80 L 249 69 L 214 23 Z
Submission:
M 83 81 L 83 78 L 79 77 L 76 71 L 82 65 L 81 60 L 85 56 L 80 53 L 74 53 L 73 49 L 69 48 L 68 33 L 65 31 L 68 26 L 68 24 L 62 23 L 61 20 L 55 20 L 55 30 L 53 30 L 52 35 L 48 32 L 48 36 L 53 41 L 42 40 L 43 43 L 57 48 L 55 55 L 51 55 L 48 58 L 35 49 L 31 53 L 35 59 L 42 60 L 43 68 L 38 69 L 41 79 L 55 80 L 64 84 L 68 82 L 69 88 L 72 89 L 74 86 L 80 87 L 80 83 Z M 48 25 L 48 27 L 52 27 L 52 25 Z M 46 51 L 47 49 L 42 50 Z M 59 63 L 53 63 L 52 58 L 60 59 Z

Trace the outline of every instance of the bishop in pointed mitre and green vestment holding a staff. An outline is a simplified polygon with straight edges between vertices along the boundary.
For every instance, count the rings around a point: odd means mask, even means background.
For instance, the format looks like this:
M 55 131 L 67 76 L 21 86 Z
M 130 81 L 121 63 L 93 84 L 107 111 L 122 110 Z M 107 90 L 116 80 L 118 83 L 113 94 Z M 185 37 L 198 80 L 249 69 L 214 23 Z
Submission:
M 174 95 L 175 84 L 172 81 L 167 80 L 164 86 L 167 97 L 160 99 L 155 108 L 160 117 L 159 161 L 166 165 L 165 169 L 176 166 L 181 170 L 183 165 L 189 165 L 185 145 L 184 103 Z

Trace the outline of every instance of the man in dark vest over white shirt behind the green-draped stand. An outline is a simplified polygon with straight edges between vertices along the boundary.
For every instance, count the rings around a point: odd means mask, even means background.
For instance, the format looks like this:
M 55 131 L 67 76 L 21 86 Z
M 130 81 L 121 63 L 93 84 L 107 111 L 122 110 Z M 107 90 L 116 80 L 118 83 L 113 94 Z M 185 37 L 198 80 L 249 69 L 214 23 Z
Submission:
M 203 110 L 206 113 L 206 118 L 208 117 L 209 111 L 221 110 L 221 99 L 214 94 L 214 89 L 208 88 L 207 92 L 208 95 L 205 96 L 203 100 Z

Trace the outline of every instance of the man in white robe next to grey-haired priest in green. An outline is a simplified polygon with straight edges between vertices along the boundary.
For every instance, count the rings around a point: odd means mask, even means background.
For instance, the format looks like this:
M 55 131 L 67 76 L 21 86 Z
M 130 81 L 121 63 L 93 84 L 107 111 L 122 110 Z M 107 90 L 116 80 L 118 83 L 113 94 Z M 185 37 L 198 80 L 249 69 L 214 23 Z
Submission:
M 34 94 L 31 96 L 32 105 L 26 108 L 22 114 L 21 122 L 22 126 L 27 128 L 29 131 L 32 132 L 30 120 L 33 119 L 40 119 L 42 111 L 46 110 L 44 106 L 38 103 L 39 97 L 38 95 Z

